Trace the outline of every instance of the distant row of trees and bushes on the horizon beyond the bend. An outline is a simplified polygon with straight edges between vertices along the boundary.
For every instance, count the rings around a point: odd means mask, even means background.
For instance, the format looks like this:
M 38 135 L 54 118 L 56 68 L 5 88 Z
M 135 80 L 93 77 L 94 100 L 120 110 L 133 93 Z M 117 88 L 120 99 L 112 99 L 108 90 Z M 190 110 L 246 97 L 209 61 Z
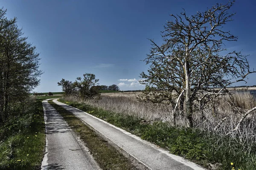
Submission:
M 62 87 L 66 96 L 80 96 L 81 99 L 99 99 L 100 91 L 119 91 L 117 85 L 99 85 L 99 79 L 96 79 L 95 74 L 85 73 L 83 77 L 77 77 L 75 82 L 61 79 L 57 82 L 58 86 Z

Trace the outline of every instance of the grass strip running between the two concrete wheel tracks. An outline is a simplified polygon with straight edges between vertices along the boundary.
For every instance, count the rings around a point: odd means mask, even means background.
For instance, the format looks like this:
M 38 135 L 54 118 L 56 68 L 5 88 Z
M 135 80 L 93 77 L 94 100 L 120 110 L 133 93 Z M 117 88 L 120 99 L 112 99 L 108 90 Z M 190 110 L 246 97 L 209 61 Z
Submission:
M 89 148 L 93 158 L 103 170 L 136 170 L 130 159 L 122 155 L 115 147 L 99 136 L 89 125 L 85 125 L 73 113 L 48 101 L 64 118 L 71 129 L 80 136 Z

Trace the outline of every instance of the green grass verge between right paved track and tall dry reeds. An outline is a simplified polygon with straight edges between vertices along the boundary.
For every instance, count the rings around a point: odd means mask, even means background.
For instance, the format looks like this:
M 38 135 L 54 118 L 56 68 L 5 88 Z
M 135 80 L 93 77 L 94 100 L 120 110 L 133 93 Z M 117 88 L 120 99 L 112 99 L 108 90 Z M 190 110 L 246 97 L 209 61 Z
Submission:
M 66 102 L 61 99 L 60 101 Z M 256 145 L 252 146 L 249 155 L 242 151 L 241 144 L 236 141 L 230 142 L 229 136 L 220 140 L 218 136 L 209 136 L 192 128 L 175 128 L 164 122 L 148 123 L 133 116 L 124 116 L 84 103 L 70 102 L 68 105 L 86 111 L 204 167 L 209 168 L 209 163 L 221 163 L 220 170 L 231 170 L 232 167 L 236 170 L 256 169 Z M 231 162 L 234 163 L 233 166 Z

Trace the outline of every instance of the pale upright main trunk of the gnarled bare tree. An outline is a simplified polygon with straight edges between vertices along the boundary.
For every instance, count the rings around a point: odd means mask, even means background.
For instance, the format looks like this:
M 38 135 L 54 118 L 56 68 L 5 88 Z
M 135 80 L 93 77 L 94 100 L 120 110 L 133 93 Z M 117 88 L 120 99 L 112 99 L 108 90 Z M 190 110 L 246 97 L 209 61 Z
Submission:
M 185 75 L 186 75 L 186 118 L 187 118 L 187 126 L 193 127 L 192 120 L 192 101 L 191 101 L 191 87 L 190 87 L 190 75 L 189 75 L 189 62 L 185 62 Z

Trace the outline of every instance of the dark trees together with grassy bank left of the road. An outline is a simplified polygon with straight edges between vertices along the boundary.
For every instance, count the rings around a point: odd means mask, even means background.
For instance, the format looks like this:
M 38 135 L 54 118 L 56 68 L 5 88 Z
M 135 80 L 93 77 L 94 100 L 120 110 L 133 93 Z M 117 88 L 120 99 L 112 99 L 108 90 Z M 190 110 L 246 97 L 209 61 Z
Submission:
M 41 100 L 29 93 L 39 85 L 39 54 L 22 37 L 17 18 L 0 9 L 0 169 L 40 169 L 45 129 Z

